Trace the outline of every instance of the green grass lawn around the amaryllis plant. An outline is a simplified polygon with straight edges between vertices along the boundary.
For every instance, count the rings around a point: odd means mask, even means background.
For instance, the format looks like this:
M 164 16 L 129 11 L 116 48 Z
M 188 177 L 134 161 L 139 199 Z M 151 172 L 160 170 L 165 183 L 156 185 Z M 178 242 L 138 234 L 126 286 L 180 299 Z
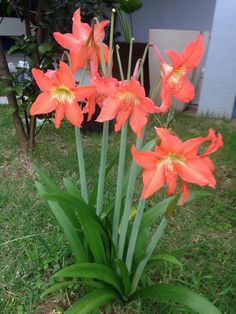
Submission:
M 183 269 L 160 264 L 153 280 L 189 286 L 214 302 L 222 313 L 236 313 L 236 121 L 197 118 L 178 114 L 174 131 L 183 139 L 206 135 L 210 127 L 221 132 L 224 147 L 214 154 L 217 188 L 212 196 L 182 207 L 172 219 L 160 250 L 172 252 Z M 153 124 L 153 123 L 152 123 Z M 152 127 L 147 137 L 154 136 Z M 100 136 L 85 134 L 85 160 L 89 186 L 97 179 Z M 129 145 L 132 143 L 132 138 Z M 117 155 L 119 136 L 110 136 L 109 159 Z M 49 277 L 70 262 L 70 251 L 49 209 L 37 195 L 33 166 L 46 171 L 58 184 L 63 177 L 79 186 L 74 129 L 63 123 L 59 130 L 46 125 L 37 146 L 22 152 L 12 128 L 7 106 L 0 107 L 0 313 L 50 313 L 55 304 L 68 306 L 71 296 L 40 299 Z M 107 194 L 113 192 L 110 175 Z M 151 202 L 159 199 L 155 195 Z M 82 293 L 79 287 L 77 293 Z M 73 296 L 72 296 L 73 298 Z M 136 305 L 113 313 L 136 313 Z M 141 313 L 190 313 L 143 305 Z M 207 313 L 206 313 L 207 314 Z

